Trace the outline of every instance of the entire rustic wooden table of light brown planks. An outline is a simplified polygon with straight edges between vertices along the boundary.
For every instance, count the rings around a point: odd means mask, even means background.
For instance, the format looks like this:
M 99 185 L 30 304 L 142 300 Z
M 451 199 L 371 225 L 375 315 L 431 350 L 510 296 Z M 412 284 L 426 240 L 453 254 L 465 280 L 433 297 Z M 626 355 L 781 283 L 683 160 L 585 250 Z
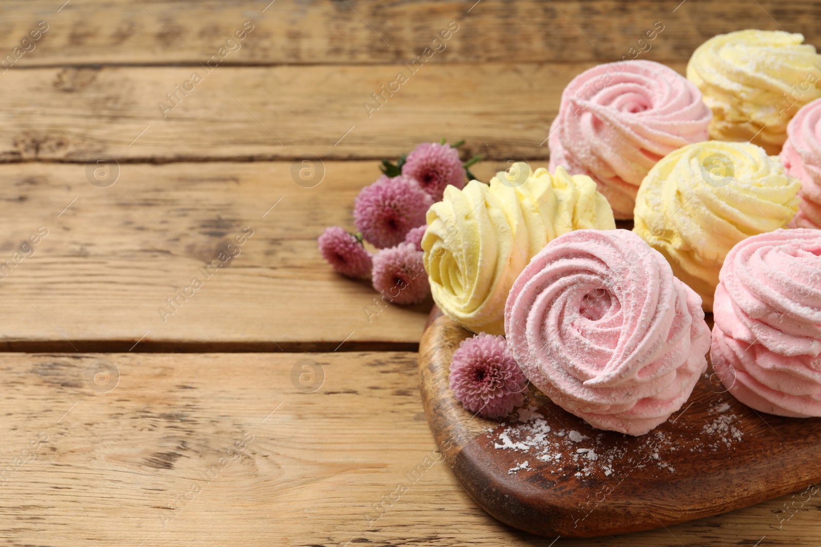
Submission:
M 446 137 L 484 180 L 545 165 L 578 72 L 683 71 L 748 27 L 821 44 L 817 3 L 268 2 L 2 4 L 2 545 L 818 543 L 817 496 L 598 540 L 494 521 L 424 418 L 430 303 L 373 317 L 315 242 L 353 227 L 378 158 Z

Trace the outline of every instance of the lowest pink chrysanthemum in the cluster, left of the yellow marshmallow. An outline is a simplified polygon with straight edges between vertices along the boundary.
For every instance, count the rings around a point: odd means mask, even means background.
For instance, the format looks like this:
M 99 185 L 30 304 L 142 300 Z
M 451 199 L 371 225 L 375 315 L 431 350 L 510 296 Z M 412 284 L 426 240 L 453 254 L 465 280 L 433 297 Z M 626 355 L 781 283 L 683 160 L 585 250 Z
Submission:
M 430 294 L 422 252 L 412 243 L 383 248 L 374 257 L 374 289 L 397 304 L 420 303 Z

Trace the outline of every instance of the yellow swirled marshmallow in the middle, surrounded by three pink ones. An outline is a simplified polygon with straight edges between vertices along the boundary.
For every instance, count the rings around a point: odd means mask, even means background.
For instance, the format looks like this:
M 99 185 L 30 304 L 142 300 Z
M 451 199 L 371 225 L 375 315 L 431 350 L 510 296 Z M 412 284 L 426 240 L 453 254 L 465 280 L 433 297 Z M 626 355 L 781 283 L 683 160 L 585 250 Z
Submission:
M 741 239 L 787 226 L 798 209 L 799 189 L 800 182 L 764 148 L 715 140 L 690 144 L 644 177 L 633 231 L 670 261 L 710 311 L 724 257 Z

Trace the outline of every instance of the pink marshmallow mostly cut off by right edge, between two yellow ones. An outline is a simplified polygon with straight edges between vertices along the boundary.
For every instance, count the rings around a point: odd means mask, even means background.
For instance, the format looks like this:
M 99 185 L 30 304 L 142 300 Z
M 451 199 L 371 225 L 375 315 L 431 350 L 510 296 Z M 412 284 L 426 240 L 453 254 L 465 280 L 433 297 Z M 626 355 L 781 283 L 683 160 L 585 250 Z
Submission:
M 781 161 L 801 181 L 801 203 L 790 227 L 821 229 L 821 99 L 802 107 L 787 125 Z

